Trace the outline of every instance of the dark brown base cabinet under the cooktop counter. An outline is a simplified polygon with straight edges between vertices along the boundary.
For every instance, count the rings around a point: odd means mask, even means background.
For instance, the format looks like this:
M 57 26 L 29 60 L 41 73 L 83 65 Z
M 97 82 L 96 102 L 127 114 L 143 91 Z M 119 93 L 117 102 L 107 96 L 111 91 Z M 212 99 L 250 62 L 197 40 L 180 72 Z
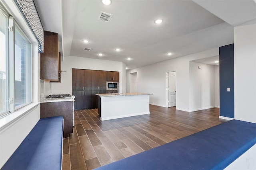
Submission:
M 47 102 L 40 103 L 40 118 L 63 116 L 64 129 L 63 138 L 68 137 L 68 133 L 73 133 L 73 102 Z

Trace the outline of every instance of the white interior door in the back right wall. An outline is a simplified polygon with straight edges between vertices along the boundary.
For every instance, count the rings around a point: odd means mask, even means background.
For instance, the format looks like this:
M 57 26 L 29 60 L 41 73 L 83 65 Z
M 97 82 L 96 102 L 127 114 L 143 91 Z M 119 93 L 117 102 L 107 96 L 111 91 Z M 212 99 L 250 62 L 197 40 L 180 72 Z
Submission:
M 176 72 L 168 72 L 168 107 L 176 106 Z

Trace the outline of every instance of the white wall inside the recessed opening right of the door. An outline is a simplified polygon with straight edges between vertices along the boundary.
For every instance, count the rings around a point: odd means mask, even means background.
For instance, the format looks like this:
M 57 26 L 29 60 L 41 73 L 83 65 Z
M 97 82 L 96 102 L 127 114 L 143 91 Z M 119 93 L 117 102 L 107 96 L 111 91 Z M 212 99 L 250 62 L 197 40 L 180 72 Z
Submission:
M 208 64 L 189 62 L 189 111 L 215 106 L 214 67 Z

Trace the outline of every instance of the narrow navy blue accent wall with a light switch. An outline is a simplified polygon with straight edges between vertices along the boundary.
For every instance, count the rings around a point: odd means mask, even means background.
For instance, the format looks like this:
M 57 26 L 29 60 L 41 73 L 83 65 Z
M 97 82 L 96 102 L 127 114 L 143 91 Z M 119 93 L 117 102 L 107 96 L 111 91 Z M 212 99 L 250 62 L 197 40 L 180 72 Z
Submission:
M 219 47 L 219 55 L 220 116 L 234 118 L 234 44 Z

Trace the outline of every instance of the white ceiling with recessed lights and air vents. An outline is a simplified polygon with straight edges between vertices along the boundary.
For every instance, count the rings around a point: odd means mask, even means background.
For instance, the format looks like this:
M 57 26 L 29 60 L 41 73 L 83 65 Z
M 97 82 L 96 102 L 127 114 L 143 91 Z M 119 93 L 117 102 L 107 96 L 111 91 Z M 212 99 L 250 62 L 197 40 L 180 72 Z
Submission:
M 44 30 L 59 34 L 64 60 L 121 61 L 128 69 L 231 44 L 233 26 L 256 19 L 254 0 L 112 0 L 109 6 L 100 0 L 34 2 Z M 100 21 L 100 12 L 113 16 Z M 158 18 L 164 20 L 160 25 L 154 23 Z

